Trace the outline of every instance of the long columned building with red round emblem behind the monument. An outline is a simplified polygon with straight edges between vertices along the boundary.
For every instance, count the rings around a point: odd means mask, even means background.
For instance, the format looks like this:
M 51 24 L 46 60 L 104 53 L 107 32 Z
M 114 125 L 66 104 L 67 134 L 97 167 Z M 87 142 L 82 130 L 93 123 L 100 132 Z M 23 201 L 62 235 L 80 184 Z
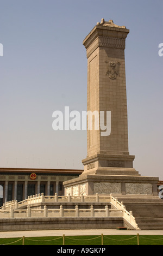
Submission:
M 82 174 L 83 170 L 0 168 L 0 206 L 11 200 L 22 201 L 28 196 L 64 195 L 62 182 Z

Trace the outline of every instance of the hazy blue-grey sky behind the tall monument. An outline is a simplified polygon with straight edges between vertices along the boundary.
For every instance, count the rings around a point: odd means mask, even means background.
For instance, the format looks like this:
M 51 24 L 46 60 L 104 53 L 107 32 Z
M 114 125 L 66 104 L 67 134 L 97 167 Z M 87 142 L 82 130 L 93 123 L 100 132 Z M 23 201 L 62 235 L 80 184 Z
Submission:
M 162 0 L 0 1 L 0 166 L 83 169 L 86 131 L 54 131 L 55 110 L 86 110 L 83 40 L 104 18 L 126 40 L 129 151 L 163 180 Z

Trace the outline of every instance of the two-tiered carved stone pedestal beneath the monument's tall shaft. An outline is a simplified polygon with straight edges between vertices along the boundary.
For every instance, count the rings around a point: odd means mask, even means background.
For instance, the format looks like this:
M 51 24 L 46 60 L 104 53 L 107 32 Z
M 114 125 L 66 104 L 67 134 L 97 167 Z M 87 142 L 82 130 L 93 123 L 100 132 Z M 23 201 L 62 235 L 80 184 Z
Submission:
M 99 153 L 84 159 L 84 171 L 65 181 L 65 195 L 158 195 L 158 177 L 141 176 L 133 168 L 135 156 Z

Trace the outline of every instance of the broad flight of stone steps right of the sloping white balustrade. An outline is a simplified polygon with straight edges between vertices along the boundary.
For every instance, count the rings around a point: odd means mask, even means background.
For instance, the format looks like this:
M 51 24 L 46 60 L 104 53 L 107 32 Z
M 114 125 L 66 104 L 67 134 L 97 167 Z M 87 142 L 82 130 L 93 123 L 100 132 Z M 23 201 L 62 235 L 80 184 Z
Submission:
M 163 200 L 159 197 L 120 197 L 141 230 L 163 230 Z

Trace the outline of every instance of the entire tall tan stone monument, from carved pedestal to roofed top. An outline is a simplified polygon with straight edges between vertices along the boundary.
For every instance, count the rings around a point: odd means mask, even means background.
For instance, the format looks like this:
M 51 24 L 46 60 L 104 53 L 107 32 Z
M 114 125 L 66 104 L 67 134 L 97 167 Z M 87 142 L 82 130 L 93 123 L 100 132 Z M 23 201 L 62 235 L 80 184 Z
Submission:
M 141 176 L 128 151 L 128 117 L 124 49 L 129 29 L 112 20 L 92 29 L 83 41 L 87 56 L 87 111 L 99 113 L 87 124 L 87 157 L 83 174 L 64 182 L 65 195 L 158 195 L 158 177 Z M 110 115 L 110 130 L 95 129 L 100 114 Z M 89 122 L 87 122 L 89 123 Z M 104 122 L 103 122 L 104 124 Z M 105 126 L 107 128 L 107 126 Z M 109 129 L 109 128 L 108 128 Z

